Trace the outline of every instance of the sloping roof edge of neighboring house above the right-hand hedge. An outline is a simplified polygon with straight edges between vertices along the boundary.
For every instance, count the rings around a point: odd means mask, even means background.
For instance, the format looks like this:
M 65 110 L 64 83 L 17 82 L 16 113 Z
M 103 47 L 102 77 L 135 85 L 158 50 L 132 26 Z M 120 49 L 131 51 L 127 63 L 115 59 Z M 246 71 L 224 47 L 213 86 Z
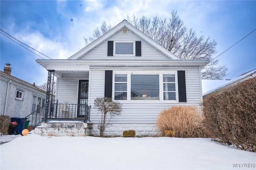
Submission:
M 212 93 L 216 93 L 218 91 L 221 91 L 223 89 L 226 89 L 228 87 L 236 85 L 237 83 L 245 81 L 245 80 L 250 79 L 252 77 L 256 77 L 256 69 L 253 69 L 251 71 L 243 73 L 243 74 L 239 75 L 238 77 L 236 77 L 236 78 L 234 78 L 230 81 L 222 82 L 220 85 L 217 85 L 214 89 L 211 89 L 210 91 L 206 91 L 205 93 L 203 93 L 203 96 L 210 95 Z

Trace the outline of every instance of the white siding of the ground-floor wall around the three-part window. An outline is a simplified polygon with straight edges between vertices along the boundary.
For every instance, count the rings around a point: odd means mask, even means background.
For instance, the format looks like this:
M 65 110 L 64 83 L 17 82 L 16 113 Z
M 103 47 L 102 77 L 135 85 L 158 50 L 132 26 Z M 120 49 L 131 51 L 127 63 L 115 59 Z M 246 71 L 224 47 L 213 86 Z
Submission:
M 200 107 L 201 92 L 200 92 L 200 77 L 198 67 L 174 67 L 174 70 L 168 69 L 168 71 L 185 70 L 186 76 L 186 103 L 169 103 L 167 102 L 126 102 L 120 101 L 123 105 L 123 111 L 121 115 L 114 117 L 111 123 L 156 123 L 156 119 L 159 113 L 163 109 L 174 105 L 183 106 L 196 106 Z M 158 71 L 161 71 L 158 69 Z M 164 70 L 162 70 L 164 71 Z M 114 70 L 113 72 L 118 72 Z M 91 87 L 90 91 L 90 104 L 91 108 L 91 123 L 99 123 L 100 114 L 97 109 L 94 108 L 94 99 L 96 97 L 104 97 L 104 83 L 105 83 L 105 71 L 104 70 L 92 70 L 91 80 L 89 80 Z M 177 89 L 178 90 L 178 89 Z M 113 96 L 114 97 L 114 96 Z

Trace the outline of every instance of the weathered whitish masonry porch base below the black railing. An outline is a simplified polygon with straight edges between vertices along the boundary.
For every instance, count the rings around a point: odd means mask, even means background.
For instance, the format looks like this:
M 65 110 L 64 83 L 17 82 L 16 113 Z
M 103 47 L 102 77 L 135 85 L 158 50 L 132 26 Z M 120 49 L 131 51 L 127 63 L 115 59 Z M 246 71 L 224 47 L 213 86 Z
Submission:
M 92 124 L 80 121 L 50 121 L 35 128 L 41 136 L 88 136 Z

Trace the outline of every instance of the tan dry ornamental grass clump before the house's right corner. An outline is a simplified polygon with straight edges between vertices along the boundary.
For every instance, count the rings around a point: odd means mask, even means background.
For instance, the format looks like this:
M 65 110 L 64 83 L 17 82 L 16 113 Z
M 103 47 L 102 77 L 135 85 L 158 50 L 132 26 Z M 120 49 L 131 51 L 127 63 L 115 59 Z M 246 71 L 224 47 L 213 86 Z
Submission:
M 163 110 L 158 116 L 156 125 L 163 134 L 165 130 L 171 130 L 174 137 L 207 137 L 204 117 L 196 107 L 192 106 L 174 106 Z

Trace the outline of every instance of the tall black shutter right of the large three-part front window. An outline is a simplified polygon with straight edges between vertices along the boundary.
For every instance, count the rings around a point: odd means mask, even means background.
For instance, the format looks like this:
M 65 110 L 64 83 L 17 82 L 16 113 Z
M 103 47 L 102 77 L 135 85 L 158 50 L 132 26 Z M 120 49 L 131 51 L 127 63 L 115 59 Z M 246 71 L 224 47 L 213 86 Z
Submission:
M 187 102 L 185 71 L 178 71 L 179 102 Z

